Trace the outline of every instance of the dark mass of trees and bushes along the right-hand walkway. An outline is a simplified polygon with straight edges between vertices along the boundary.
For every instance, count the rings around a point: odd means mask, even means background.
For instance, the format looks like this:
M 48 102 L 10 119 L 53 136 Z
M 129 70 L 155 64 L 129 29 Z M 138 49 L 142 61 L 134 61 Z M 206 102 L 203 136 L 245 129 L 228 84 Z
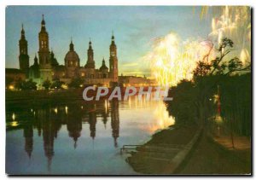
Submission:
M 172 102 L 167 102 L 169 113 L 177 124 L 196 123 L 204 125 L 218 113 L 214 96 L 220 91 L 221 117 L 231 134 L 251 135 L 251 65 L 242 67 L 239 58 L 227 59 L 234 43 L 223 38 L 217 57 L 210 63 L 199 61 L 192 82 L 181 81 L 170 90 Z M 230 76 L 231 73 L 247 71 L 247 74 Z M 234 75 L 234 74 L 233 74 Z

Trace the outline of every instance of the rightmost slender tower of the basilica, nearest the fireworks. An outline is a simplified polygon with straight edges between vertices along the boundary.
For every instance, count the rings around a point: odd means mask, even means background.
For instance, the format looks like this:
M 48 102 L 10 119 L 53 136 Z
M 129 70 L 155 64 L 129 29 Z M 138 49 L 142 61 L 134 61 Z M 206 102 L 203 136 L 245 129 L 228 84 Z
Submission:
M 119 69 L 118 69 L 118 58 L 117 58 L 117 48 L 114 43 L 114 36 L 112 34 L 112 41 L 109 47 L 110 57 L 109 57 L 109 76 L 113 78 L 114 83 L 118 83 Z

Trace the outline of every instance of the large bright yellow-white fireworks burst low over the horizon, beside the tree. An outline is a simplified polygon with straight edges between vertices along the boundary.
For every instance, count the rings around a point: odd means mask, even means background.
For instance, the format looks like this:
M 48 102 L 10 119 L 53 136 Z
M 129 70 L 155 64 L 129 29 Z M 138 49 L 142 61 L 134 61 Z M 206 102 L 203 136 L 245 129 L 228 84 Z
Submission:
M 212 49 L 209 41 L 188 39 L 181 41 L 169 33 L 155 41 L 153 50 L 145 56 L 151 72 L 161 86 L 174 86 L 182 79 L 193 78 L 197 61 L 208 61 Z

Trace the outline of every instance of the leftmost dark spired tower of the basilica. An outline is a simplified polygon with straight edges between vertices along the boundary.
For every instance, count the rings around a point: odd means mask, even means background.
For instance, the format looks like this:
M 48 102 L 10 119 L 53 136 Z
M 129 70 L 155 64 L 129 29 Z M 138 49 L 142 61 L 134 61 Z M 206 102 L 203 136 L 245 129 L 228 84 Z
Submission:
M 29 56 L 27 55 L 27 41 L 25 37 L 25 31 L 23 24 L 21 25 L 21 32 L 20 32 L 20 55 L 19 55 L 19 63 L 20 63 L 20 70 L 26 73 L 26 78 L 28 78 L 28 71 L 29 71 Z

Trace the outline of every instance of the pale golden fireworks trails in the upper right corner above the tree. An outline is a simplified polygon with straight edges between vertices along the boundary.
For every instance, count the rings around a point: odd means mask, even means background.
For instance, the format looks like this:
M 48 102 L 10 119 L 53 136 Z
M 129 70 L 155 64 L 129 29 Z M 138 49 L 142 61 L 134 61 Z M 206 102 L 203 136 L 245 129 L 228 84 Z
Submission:
M 218 45 L 222 38 L 235 44 L 232 55 L 240 57 L 244 66 L 251 62 L 251 13 L 247 6 L 212 8 L 212 32 L 209 38 Z

